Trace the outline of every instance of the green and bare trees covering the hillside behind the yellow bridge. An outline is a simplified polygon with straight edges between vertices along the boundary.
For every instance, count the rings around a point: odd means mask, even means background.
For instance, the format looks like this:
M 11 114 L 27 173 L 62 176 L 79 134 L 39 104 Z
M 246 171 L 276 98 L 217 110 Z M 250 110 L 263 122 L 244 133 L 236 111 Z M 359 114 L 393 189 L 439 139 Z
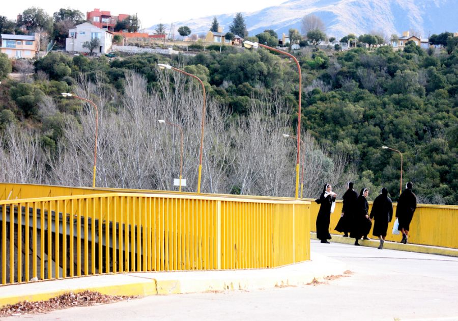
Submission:
M 341 195 L 352 180 L 358 189 L 371 190 L 370 199 L 385 186 L 396 200 L 400 158 L 381 148 L 389 146 L 403 152 L 403 181 L 414 182 L 420 202 L 458 203 L 456 47 L 425 51 L 411 43 L 396 52 L 389 46 L 310 50 L 298 59 L 304 196 L 317 196 L 325 182 Z M 108 61 L 51 52 L 36 62 L 33 82 L 2 82 L 0 162 L 27 167 L 18 159 L 14 163 L 10 152 L 26 128 L 43 151 L 27 164 L 45 164 L 28 182 L 90 184 L 94 114 L 90 105 L 60 96 L 74 91 L 100 108 L 97 185 L 173 189 L 179 135 L 156 124 L 167 118 L 184 129 L 183 177 L 193 191 L 201 89 L 182 74 L 158 70 L 158 62 L 197 75 L 207 89 L 203 192 L 294 195 L 295 146 L 281 134 L 295 135 L 297 71 L 265 49 L 219 53 L 218 47 L 171 61 L 158 55 Z M 3 175 L 2 180 L 23 179 Z

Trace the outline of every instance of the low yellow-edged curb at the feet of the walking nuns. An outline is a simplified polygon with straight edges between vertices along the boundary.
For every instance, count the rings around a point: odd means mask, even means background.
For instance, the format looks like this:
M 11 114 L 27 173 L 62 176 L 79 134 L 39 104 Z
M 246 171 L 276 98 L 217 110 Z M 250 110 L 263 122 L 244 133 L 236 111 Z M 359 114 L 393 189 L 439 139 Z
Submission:
M 332 236 L 331 243 L 333 242 L 333 243 L 341 243 L 341 244 L 349 244 L 349 245 L 355 244 L 354 238 L 344 237 L 342 235 L 336 235 L 336 234 L 331 234 L 331 236 Z M 310 232 L 310 238 L 318 239 L 317 233 Z M 378 248 L 380 245 L 380 241 L 378 238 L 369 239 L 369 240 L 360 239 L 359 244 L 361 246 Z M 402 243 L 391 242 L 387 240 L 385 241 L 383 245 L 383 249 L 458 257 L 458 249 L 440 248 L 440 247 L 435 247 L 435 246 L 418 245 L 418 244 L 402 244 Z

